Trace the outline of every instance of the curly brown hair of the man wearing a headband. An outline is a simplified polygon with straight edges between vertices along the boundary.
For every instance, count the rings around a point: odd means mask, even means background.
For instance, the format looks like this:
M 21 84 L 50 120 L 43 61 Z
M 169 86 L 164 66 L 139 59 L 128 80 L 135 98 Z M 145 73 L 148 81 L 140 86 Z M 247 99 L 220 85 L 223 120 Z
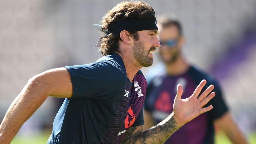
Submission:
M 106 13 L 102 18 L 102 27 L 108 29 L 110 24 L 117 21 L 122 21 L 127 18 L 140 18 L 148 19 L 155 18 L 155 10 L 146 2 L 143 1 L 129 1 L 121 2 L 114 8 Z M 128 31 L 130 35 L 135 39 L 139 39 L 137 31 Z M 110 55 L 112 52 L 120 52 L 118 41 L 121 40 L 120 33 L 110 33 L 107 36 L 100 38 L 101 47 L 99 51 L 105 55 Z

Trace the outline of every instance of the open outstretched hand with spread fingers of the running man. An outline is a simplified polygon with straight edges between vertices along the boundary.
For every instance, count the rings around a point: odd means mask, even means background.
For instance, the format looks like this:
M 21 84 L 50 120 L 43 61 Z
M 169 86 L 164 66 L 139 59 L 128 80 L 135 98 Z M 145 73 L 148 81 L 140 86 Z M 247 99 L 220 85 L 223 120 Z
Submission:
M 181 99 L 183 89 L 181 85 L 177 86 L 177 94 L 173 104 L 173 116 L 177 124 L 179 124 L 180 126 L 191 121 L 200 114 L 210 111 L 213 108 L 212 105 L 202 108 L 215 96 L 214 92 L 209 94 L 214 89 L 213 85 L 210 85 L 198 97 L 205 84 L 206 80 L 202 80 L 200 84 L 196 87 L 194 93 L 186 99 Z

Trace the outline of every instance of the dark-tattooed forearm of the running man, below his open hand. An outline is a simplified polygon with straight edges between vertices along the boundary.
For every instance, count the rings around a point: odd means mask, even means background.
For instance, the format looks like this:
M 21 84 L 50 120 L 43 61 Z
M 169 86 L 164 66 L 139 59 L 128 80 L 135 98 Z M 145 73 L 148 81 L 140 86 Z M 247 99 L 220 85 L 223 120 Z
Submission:
M 125 144 L 162 144 L 177 129 L 177 125 L 173 116 L 169 116 L 165 122 L 159 123 L 157 126 L 142 132 L 143 126 L 131 127 L 127 130 L 123 140 Z

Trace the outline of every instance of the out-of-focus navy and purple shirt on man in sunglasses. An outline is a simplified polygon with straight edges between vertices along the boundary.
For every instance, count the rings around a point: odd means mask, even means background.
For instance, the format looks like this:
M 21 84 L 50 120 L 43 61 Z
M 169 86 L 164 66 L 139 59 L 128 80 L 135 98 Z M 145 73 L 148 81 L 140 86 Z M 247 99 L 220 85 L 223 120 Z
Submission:
M 215 88 L 213 91 L 216 96 L 207 104 L 207 106 L 212 105 L 213 109 L 186 123 L 165 142 L 166 144 L 213 144 L 213 120 L 221 117 L 228 110 L 217 81 L 212 76 L 193 66 L 191 66 L 187 72 L 177 76 L 166 74 L 163 65 L 158 65 L 154 68 L 154 71 L 150 73 L 154 74 L 151 75 L 150 80 L 148 80 L 144 108 L 151 112 L 155 121 L 154 124 L 161 122 L 172 112 L 173 102 L 177 92 L 177 84 L 181 84 L 183 87 L 182 99 L 191 96 L 197 85 L 203 79 L 207 81 L 207 84 L 204 86 L 202 92 L 210 84 L 214 85 Z

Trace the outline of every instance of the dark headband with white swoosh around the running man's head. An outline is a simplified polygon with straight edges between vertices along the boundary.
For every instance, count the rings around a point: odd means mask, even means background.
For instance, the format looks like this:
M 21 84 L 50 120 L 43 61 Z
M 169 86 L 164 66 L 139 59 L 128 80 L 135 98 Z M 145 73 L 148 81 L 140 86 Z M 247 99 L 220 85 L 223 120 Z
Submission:
M 158 28 L 156 18 L 127 18 L 123 21 L 117 21 L 115 23 L 110 24 L 106 34 L 119 34 L 122 30 L 135 32 L 141 30 L 158 30 Z

